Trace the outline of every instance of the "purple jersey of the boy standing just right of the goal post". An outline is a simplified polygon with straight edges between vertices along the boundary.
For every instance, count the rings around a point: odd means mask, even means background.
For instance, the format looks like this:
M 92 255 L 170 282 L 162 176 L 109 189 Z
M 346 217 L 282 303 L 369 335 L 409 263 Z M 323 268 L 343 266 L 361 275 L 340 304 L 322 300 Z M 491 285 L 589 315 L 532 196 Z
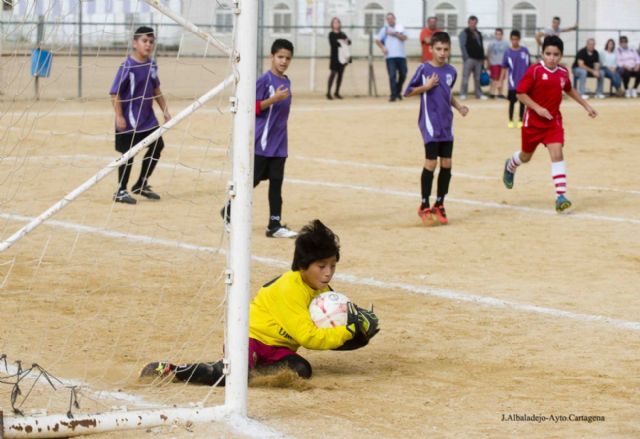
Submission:
M 266 72 L 256 82 L 256 101 L 264 101 L 276 93 L 278 87 L 289 89 L 289 97 L 276 102 L 256 114 L 255 153 L 263 157 L 287 157 L 287 121 L 291 109 L 291 81 Z

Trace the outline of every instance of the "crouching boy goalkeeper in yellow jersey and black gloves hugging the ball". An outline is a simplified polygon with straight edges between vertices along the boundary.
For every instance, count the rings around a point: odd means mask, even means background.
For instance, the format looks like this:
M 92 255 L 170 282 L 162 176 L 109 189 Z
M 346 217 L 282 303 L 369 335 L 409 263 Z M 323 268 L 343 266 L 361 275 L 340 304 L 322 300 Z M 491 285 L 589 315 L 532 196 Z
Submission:
M 303 227 L 296 238 L 291 271 L 266 283 L 249 310 L 249 369 L 261 372 L 290 369 L 311 378 L 311 364 L 296 351 L 353 350 L 366 346 L 377 334 L 378 318 L 349 303 L 346 326 L 318 328 L 309 315 L 309 304 L 330 291 L 329 282 L 340 260 L 338 236 L 319 220 Z M 174 365 L 154 362 L 141 377 L 170 376 L 179 381 L 224 385 L 222 361 Z

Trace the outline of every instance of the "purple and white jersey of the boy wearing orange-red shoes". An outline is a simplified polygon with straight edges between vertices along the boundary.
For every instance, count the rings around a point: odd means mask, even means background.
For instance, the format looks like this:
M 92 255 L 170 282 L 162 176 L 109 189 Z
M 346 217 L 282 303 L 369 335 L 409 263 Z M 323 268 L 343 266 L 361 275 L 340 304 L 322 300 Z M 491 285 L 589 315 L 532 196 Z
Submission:
M 438 85 L 420 95 L 420 115 L 418 127 L 424 143 L 453 141 L 453 111 L 451 111 L 451 89 L 456 83 L 458 73 L 451 64 L 434 67 L 424 63 L 418 67 L 415 75 L 405 90 L 405 96 L 416 88 L 427 83 L 432 74 L 438 75 Z

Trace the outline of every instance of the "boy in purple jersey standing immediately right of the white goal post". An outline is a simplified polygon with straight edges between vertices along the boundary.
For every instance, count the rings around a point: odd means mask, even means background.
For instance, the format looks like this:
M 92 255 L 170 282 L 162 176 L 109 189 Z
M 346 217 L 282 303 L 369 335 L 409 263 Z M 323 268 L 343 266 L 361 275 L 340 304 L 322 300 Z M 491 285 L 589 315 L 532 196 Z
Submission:
M 256 81 L 256 138 L 253 162 L 253 187 L 269 180 L 269 238 L 295 238 L 282 219 L 282 183 L 284 164 L 289 155 L 287 122 L 291 109 L 291 81 L 284 74 L 293 58 L 293 44 L 277 39 L 271 45 L 271 69 Z M 220 211 L 228 223 L 229 203 Z

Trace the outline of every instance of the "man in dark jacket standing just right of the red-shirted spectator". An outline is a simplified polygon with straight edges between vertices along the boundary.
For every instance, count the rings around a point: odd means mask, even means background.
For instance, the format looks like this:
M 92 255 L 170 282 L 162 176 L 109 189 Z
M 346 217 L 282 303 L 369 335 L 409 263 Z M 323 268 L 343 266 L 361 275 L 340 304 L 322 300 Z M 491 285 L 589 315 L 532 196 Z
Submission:
M 460 84 L 460 99 L 467 99 L 469 89 L 469 76 L 473 72 L 473 83 L 476 98 L 488 99 L 482 94 L 480 88 L 480 73 L 484 64 L 484 46 L 482 45 L 482 34 L 478 31 L 478 17 L 471 15 L 466 27 L 460 35 L 460 52 L 462 52 L 462 83 Z

